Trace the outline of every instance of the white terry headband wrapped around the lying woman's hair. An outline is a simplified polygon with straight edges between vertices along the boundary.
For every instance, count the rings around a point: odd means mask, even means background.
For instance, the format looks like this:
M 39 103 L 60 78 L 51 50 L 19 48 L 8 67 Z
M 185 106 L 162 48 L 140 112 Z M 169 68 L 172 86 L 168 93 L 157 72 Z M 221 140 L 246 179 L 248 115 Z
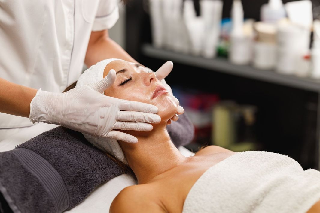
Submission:
M 116 60 L 121 60 L 117 58 L 110 58 L 98 62 L 96 65 L 92 65 L 89 69 L 84 71 L 77 81 L 76 88 L 83 87 L 84 85 L 90 84 L 103 79 L 103 72 L 106 66 Z M 92 143 L 95 147 L 99 148 L 104 152 L 108 152 L 112 156 L 115 156 L 121 162 L 128 164 L 127 159 L 117 140 L 111 138 L 102 138 L 97 136 L 92 136 L 89 134 L 84 134 L 84 138 Z

